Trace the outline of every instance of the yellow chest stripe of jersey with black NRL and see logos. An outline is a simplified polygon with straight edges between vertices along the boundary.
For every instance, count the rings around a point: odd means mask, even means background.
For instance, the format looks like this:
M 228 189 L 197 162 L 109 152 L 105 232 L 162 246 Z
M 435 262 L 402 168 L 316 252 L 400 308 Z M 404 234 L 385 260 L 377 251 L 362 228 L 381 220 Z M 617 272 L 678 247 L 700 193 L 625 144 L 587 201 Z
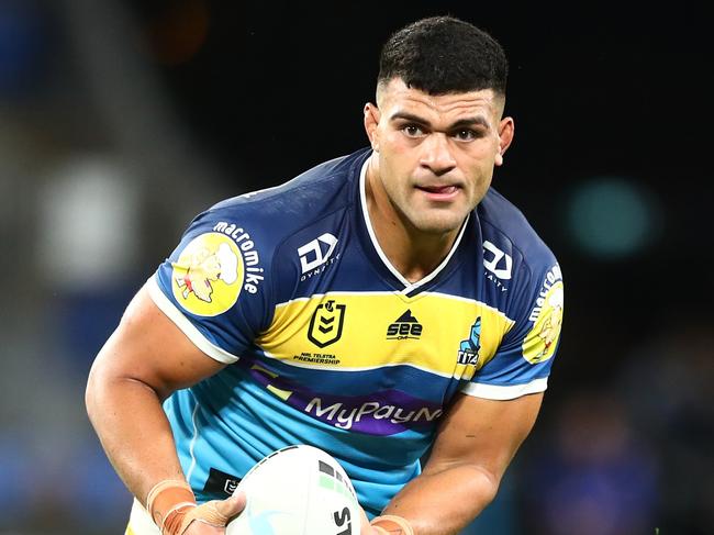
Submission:
M 478 317 L 478 361 L 459 364 L 460 344 Z M 512 320 L 484 303 L 442 293 L 410 299 L 390 292 L 330 292 L 279 304 L 256 342 L 272 358 L 300 367 L 411 365 L 469 379 L 493 357 L 512 326 Z

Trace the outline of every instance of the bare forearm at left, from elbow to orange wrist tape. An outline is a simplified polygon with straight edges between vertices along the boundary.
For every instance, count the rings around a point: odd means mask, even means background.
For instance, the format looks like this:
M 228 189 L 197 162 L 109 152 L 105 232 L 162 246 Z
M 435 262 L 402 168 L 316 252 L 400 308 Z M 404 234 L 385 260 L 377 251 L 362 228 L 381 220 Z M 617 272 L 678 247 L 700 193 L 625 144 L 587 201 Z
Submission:
M 143 504 L 154 484 L 182 480 L 174 436 L 155 390 L 129 378 L 93 372 L 87 412 L 112 466 Z

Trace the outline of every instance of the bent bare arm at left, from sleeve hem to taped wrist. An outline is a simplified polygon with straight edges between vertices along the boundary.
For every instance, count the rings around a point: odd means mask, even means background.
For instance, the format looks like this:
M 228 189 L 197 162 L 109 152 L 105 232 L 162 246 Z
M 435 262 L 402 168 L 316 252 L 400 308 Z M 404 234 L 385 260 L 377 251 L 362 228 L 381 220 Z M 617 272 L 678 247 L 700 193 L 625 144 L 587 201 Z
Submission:
M 223 366 L 178 330 L 146 288 L 99 352 L 87 412 L 114 469 L 142 503 L 158 481 L 183 479 L 161 402 Z

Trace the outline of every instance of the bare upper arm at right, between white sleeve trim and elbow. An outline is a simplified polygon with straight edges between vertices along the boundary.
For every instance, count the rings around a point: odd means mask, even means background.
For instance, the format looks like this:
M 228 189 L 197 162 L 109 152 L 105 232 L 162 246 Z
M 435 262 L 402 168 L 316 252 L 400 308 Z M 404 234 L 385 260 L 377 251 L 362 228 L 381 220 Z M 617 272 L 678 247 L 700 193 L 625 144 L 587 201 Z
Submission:
M 457 394 L 446 412 L 424 473 L 469 464 L 501 479 L 531 432 L 543 392 L 497 401 Z

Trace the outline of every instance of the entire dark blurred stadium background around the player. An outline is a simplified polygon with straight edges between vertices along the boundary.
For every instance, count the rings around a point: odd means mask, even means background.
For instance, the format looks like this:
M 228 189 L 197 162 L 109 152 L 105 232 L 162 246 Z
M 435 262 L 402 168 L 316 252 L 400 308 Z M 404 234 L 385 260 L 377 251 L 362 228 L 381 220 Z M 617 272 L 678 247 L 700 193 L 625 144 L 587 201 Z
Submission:
M 714 533 L 698 5 L 0 0 L 0 534 L 123 533 L 83 388 L 126 301 L 194 213 L 364 146 L 381 42 L 442 13 L 509 53 L 494 185 L 568 288 L 539 422 L 465 533 Z

